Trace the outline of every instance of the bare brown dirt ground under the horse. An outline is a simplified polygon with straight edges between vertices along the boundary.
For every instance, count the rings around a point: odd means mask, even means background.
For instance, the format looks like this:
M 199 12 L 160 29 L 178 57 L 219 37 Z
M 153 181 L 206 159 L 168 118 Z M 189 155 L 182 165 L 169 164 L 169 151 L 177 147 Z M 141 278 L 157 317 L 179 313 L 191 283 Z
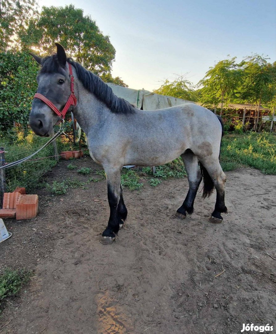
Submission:
M 99 168 L 88 157 L 74 163 Z M 47 182 L 87 180 L 67 164 Z M 226 174 L 229 214 L 218 225 L 208 222 L 215 194 L 198 195 L 194 213 L 178 220 L 187 179 L 154 188 L 141 176 L 141 192 L 124 189 L 128 219 L 112 245 L 99 242 L 109 216 L 105 181 L 62 196 L 37 190 L 37 218 L 5 220 L 13 235 L 0 244 L 0 269 L 34 274 L 8 301 L 0 333 L 227 334 L 243 323 L 276 326 L 276 176 L 246 168 Z

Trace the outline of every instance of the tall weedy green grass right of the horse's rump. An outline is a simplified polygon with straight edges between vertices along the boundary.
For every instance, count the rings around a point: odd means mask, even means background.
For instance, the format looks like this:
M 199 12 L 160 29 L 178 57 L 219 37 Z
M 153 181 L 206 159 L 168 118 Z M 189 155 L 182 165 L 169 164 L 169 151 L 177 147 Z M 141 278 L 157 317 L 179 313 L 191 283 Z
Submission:
M 228 134 L 222 140 L 220 161 L 224 171 L 245 165 L 275 175 L 276 136 L 254 132 Z

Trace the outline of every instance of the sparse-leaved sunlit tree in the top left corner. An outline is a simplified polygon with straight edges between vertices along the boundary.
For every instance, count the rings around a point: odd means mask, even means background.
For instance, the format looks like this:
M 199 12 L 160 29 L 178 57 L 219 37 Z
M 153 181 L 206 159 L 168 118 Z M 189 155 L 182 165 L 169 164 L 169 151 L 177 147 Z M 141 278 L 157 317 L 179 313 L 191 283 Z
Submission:
M 35 0 L 0 0 L 0 52 L 11 46 L 18 50 L 18 35 L 26 33 L 28 18 L 37 13 L 36 6 Z

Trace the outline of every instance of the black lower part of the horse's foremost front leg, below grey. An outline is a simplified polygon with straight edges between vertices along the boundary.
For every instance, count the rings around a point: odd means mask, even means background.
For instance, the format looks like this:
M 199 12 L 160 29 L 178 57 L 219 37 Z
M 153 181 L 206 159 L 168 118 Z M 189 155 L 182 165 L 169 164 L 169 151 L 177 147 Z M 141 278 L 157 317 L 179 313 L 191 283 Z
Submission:
M 115 233 L 117 234 L 120 228 L 120 219 L 118 217 L 119 198 L 114 194 L 110 185 L 107 185 L 107 197 L 110 207 L 110 216 L 102 236 L 115 237 Z

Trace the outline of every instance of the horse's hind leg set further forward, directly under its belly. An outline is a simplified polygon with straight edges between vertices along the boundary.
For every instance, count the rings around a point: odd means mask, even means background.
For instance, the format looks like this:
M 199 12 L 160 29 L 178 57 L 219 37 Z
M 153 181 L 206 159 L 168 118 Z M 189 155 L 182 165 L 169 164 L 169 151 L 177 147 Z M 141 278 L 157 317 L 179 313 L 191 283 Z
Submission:
M 186 217 L 186 212 L 190 214 L 194 211 L 194 200 L 202 177 L 198 168 L 197 157 L 191 150 L 187 150 L 181 155 L 181 158 L 184 162 L 189 181 L 189 191 L 187 196 L 183 204 L 176 211 L 176 217 L 183 219 Z

